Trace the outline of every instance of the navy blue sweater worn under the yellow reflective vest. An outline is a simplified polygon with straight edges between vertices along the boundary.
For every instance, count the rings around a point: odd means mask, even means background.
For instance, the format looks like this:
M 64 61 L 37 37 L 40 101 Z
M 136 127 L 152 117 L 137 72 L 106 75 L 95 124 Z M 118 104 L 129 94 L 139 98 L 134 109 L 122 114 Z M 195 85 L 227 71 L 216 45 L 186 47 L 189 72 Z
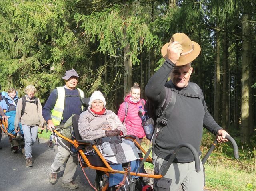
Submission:
M 72 116 L 72 114 L 81 114 L 82 112 L 82 109 L 81 109 L 82 103 L 80 101 L 80 94 L 78 92 L 78 89 L 74 89 L 74 90 L 70 90 L 67 88 L 64 88 L 64 89 L 65 89 L 65 102 L 64 102 L 64 110 L 63 110 L 62 120 L 61 120 L 61 122 L 63 123 L 65 123 L 70 118 L 70 116 Z M 46 101 L 44 107 L 42 108 L 42 114 L 46 122 L 49 119 L 52 119 L 51 110 L 54 108 L 57 98 L 58 98 L 58 91 L 57 89 L 54 89 L 50 94 L 48 100 Z

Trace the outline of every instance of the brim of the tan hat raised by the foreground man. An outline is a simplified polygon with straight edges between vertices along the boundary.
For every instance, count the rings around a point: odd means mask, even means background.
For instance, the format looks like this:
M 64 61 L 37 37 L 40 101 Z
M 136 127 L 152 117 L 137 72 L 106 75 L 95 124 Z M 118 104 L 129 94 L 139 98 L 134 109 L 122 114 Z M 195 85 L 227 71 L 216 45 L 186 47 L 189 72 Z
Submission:
M 192 62 L 194 59 L 196 59 L 196 57 L 198 57 L 198 55 L 200 54 L 200 51 L 201 51 L 200 45 L 194 41 L 191 41 L 191 42 L 194 43 L 193 51 L 186 55 L 181 55 L 179 60 L 176 62 L 176 66 L 186 65 L 186 64 Z M 164 57 L 164 59 L 167 58 L 167 48 L 168 48 L 169 44 L 170 44 L 170 42 L 166 43 L 161 49 L 161 53 L 162 53 L 162 56 Z

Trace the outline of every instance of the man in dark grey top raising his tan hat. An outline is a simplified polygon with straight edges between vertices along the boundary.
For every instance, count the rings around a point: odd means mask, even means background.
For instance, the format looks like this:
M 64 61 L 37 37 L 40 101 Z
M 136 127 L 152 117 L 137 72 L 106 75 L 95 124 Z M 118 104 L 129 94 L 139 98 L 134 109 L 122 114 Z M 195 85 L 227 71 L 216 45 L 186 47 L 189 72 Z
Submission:
M 189 82 L 193 68 L 191 62 L 198 57 L 200 45 L 191 41 L 184 33 L 176 33 L 170 43 L 162 47 L 164 64 L 146 85 L 146 96 L 156 108 L 166 100 L 166 87 L 170 104 L 166 107 L 167 122 L 159 123 L 153 149 L 154 173 L 160 174 L 174 148 L 181 143 L 194 146 L 200 155 L 203 126 L 217 136 L 218 142 L 228 141 L 228 133 L 212 118 L 207 110 L 202 90 Z M 170 76 L 170 81 L 167 81 Z M 167 82 L 166 82 L 167 81 Z M 176 100 L 172 102 L 172 99 Z M 203 191 L 204 172 L 195 171 L 194 156 L 188 148 L 181 148 L 161 179 L 154 180 L 155 191 L 175 191 L 180 185 L 184 191 Z

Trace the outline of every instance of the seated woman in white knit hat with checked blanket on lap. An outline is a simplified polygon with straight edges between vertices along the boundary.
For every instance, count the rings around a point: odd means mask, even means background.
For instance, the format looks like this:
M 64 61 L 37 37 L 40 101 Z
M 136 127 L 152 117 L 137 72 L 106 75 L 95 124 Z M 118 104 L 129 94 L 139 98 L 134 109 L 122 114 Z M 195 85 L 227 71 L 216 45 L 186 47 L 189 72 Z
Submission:
M 78 130 L 83 140 L 96 140 L 107 136 L 126 135 L 127 130 L 120 122 L 118 116 L 105 108 L 106 101 L 100 91 L 95 91 L 90 97 L 89 107 L 87 111 L 82 112 L 78 120 Z M 122 140 L 122 143 L 114 144 L 112 142 L 104 142 L 98 145 L 102 151 L 104 158 L 110 163 L 112 169 L 122 171 L 122 163 L 130 162 L 131 171 L 136 172 L 139 166 L 138 150 L 134 143 L 130 140 Z M 86 147 L 87 153 L 93 154 L 92 146 Z M 145 183 L 140 177 L 133 177 L 136 180 L 137 187 L 141 189 Z M 116 190 L 123 179 L 123 175 L 109 174 L 110 191 Z

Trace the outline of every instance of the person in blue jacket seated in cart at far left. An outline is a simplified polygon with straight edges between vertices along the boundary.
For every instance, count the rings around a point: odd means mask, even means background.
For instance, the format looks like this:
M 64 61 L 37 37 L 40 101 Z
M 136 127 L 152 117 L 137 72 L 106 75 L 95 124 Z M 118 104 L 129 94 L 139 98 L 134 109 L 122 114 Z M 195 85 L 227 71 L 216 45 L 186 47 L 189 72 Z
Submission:
M 18 95 L 17 91 L 14 88 L 10 88 L 7 92 L 7 95 L 3 97 L 3 99 L 0 102 L 0 106 L 5 112 L 5 115 L 8 116 L 8 133 L 15 134 L 14 130 L 14 118 L 16 114 L 16 107 L 18 102 Z M 22 127 L 19 125 L 21 134 Z

